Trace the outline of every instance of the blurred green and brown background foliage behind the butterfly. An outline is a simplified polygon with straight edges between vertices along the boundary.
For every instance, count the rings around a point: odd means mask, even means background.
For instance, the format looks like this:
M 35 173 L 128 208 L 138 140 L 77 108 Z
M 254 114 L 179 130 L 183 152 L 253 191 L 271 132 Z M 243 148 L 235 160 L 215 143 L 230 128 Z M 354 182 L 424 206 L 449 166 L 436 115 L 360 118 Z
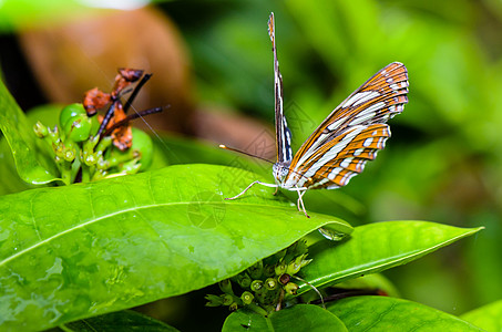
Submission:
M 214 144 L 191 155 L 186 146 L 199 143 L 189 142 L 176 156 L 163 131 L 275 158 L 270 11 L 296 148 L 376 71 L 403 62 L 410 103 L 391 121 L 388 147 L 346 188 L 307 194 L 307 208 L 352 225 L 485 226 L 387 277 L 403 298 L 453 314 L 500 299 L 501 1 L 156 1 L 146 9 L 104 2 L 134 11 L 92 2 L 2 1 L 2 76 L 28 111 L 79 101 L 95 85 L 110 90 L 119 66 L 153 72 L 137 107 L 172 105 L 146 118 L 171 163 L 232 165 L 240 157 L 218 158 Z

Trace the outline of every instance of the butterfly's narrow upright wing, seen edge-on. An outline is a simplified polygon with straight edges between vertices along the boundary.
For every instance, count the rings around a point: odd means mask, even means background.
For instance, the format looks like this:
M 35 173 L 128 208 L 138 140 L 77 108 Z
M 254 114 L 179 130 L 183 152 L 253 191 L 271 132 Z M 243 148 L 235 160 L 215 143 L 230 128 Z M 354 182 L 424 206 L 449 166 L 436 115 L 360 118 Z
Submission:
M 283 76 L 280 75 L 279 61 L 277 60 L 274 13 L 270 13 L 270 17 L 268 18 L 268 35 L 270 37 L 272 50 L 274 52 L 274 96 L 277 136 L 277 162 L 288 164 L 293 159 L 291 132 L 289 131 L 286 117 L 284 116 Z

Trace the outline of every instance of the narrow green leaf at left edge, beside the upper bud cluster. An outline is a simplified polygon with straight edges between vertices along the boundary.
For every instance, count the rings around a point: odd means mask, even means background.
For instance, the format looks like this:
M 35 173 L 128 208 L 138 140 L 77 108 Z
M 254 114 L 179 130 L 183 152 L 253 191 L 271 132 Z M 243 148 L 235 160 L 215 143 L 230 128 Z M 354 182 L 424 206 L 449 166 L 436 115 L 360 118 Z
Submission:
M 54 162 L 24 113 L 0 82 L 0 129 L 12 151 L 19 176 L 30 184 L 57 180 Z

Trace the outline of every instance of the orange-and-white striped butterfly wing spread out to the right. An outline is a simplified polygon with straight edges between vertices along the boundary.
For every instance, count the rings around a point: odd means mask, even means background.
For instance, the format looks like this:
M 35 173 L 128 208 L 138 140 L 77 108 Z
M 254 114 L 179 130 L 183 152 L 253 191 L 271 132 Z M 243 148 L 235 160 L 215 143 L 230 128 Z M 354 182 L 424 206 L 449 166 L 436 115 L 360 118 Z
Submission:
M 285 187 L 337 188 L 362 172 L 390 137 L 387 121 L 408 103 L 408 72 L 393 62 L 349 95 L 294 156 Z

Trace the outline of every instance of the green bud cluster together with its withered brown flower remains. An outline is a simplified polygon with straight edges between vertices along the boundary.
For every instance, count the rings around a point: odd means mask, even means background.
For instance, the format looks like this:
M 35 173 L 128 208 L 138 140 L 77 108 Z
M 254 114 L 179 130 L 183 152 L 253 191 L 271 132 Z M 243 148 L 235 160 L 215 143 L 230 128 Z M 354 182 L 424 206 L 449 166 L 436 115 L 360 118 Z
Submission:
M 126 115 L 151 74 L 142 70 L 119 69 L 111 93 L 98 87 L 88 91 L 83 103 L 61 110 L 59 126 L 38 122 L 33 129 L 52 147 L 63 184 L 93 181 L 104 177 L 135 174 L 152 162 L 153 144 L 148 135 L 133 128 L 131 121 L 163 111 L 155 107 Z M 125 103 L 121 97 L 137 82 Z M 104 115 L 99 111 L 104 111 Z

